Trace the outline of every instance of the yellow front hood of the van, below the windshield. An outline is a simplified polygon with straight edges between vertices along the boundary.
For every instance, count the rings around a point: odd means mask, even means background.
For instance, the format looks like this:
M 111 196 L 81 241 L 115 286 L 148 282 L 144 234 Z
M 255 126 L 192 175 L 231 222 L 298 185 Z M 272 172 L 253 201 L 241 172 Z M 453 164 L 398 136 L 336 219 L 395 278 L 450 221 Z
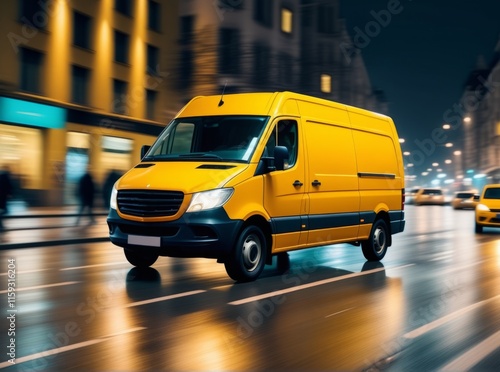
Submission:
M 118 190 L 165 190 L 191 194 L 223 187 L 248 164 L 206 162 L 147 162 L 128 171 Z

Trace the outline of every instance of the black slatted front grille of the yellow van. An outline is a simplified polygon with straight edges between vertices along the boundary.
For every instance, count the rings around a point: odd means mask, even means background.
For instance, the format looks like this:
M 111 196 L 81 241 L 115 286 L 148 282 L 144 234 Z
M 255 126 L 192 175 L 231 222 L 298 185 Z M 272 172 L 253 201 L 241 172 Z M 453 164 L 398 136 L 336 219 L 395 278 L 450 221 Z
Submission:
M 184 194 L 178 191 L 119 190 L 118 209 L 137 217 L 168 217 L 179 210 Z

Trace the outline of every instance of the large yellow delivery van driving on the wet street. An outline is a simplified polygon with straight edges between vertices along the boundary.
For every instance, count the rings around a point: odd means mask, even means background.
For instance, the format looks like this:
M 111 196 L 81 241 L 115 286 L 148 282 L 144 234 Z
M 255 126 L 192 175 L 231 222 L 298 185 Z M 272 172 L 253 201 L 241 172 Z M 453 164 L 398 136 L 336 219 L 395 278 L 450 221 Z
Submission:
M 335 243 L 381 260 L 402 232 L 393 121 L 291 92 L 193 98 L 113 189 L 111 241 L 127 260 L 206 257 L 236 281 L 272 257 Z

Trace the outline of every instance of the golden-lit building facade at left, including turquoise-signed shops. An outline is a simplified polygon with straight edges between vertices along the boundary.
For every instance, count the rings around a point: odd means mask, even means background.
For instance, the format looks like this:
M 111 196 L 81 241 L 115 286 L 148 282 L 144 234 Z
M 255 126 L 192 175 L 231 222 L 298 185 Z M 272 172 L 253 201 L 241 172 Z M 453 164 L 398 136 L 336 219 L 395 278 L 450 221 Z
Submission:
M 24 200 L 74 203 L 87 166 L 100 187 L 179 109 L 170 79 L 177 4 L 2 1 L 0 165 Z

